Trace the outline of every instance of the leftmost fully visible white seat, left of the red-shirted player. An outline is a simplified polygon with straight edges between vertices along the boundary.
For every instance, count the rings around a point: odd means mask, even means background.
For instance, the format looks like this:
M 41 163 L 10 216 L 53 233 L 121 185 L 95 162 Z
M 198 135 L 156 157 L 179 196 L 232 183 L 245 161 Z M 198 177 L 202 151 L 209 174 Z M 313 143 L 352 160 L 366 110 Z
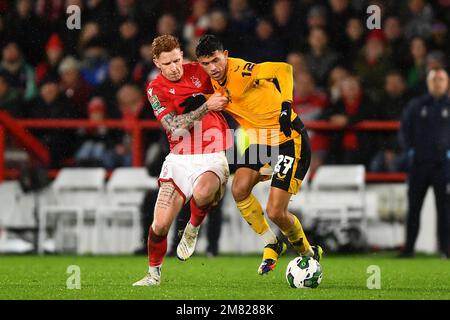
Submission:
M 44 252 L 49 224 L 56 226 L 57 250 L 64 250 L 64 241 L 71 239 L 69 247 L 76 253 L 95 251 L 98 243 L 97 207 L 104 201 L 105 177 L 104 168 L 61 169 L 51 186 L 52 202 L 39 209 L 39 253 Z

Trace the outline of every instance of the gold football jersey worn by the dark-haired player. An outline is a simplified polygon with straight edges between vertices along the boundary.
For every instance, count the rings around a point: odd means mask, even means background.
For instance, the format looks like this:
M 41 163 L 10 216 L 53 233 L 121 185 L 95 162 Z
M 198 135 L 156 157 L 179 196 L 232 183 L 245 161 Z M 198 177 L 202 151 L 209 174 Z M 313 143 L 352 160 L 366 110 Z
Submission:
M 280 131 L 281 103 L 292 102 L 292 67 L 287 63 L 255 64 L 242 59 L 228 58 L 224 83 L 211 80 L 215 92 L 228 97 L 225 111 L 231 114 L 249 136 L 251 144 L 278 145 L 291 137 Z M 291 119 L 297 114 L 292 110 Z

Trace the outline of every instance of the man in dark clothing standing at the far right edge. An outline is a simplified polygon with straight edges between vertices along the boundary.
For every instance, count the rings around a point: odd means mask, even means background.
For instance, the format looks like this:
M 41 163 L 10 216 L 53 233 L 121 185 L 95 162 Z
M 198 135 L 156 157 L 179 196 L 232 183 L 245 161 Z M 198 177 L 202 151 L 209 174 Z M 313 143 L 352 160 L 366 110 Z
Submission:
M 450 98 L 448 73 L 433 69 L 427 75 L 428 93 L 410 101 L 401 121 L 400 139 L 409 157 L 406 242 L 401 257 L 413 257 L 420 213 L 429 187 L 437 209 L 439 253 L 450 250 Z

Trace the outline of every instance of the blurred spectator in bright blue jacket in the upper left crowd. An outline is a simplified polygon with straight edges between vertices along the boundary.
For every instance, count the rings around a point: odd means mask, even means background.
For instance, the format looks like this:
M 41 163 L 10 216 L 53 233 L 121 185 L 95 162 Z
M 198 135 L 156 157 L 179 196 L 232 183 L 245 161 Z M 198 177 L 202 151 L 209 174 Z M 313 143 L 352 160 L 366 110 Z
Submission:
M 108 73 L 108 52 L 103 39 L 93 38 L 86 44 L 80 73 L 91 86 L 97 86 L 105 80 Z

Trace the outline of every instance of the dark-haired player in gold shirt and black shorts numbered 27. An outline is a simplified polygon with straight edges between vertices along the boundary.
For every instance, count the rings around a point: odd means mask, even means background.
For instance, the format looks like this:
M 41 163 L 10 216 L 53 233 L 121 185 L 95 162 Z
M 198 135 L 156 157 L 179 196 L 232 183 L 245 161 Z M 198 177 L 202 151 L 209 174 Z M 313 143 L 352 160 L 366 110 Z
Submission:
M 283 62 L 251 63 L 228 57 L 223 44 L 205 35 L 196 47 L 198 62 L 211 77 L 215 92 L 228 97 L 228 112 L 249 136 L 250 145 L 238 161 L 232 193 L 242 217 L 265 243 L 258 273 L 273 270 L 286 251 L 270 229 L 253 187 L 261 180 L 260 169 L 273 167 L 266 212 L 299 255 L 320 260 L 322 248 L 311 246 L 298 218 L 288 211 L 291 196 L 300 189 L 308 171 L 311 151 L 308 135 L 291 110 L 293 76 Z M 260 155 L 267 155 L 262 159 Z

